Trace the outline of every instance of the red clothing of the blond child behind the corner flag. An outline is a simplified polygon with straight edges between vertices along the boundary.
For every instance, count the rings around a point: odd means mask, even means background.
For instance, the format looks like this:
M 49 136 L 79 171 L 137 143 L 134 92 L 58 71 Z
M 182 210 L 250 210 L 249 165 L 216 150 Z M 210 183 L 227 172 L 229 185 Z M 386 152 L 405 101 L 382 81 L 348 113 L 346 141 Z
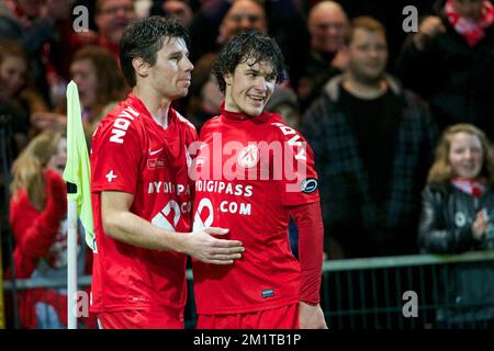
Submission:
M 15 239 L 13 261 L 16 279 L 63 279 L 67 275 L 67 193 L 61 177 L 45 170 L 46 205 L 36 210 L 22 189 L 10 203 L 10 223 Z M 85 250 L 85 251 L 83 251 Z M 89 248 L 79 238 L 79 274 L 90 274 Z M 10 274 L 9 274 L 10 275 Z M 24 328 L 43 328 L 35 304 L 52 306 L 59 321 L 67 325 L 65 290 L 34 288 L 19 293 L 20 317 Z

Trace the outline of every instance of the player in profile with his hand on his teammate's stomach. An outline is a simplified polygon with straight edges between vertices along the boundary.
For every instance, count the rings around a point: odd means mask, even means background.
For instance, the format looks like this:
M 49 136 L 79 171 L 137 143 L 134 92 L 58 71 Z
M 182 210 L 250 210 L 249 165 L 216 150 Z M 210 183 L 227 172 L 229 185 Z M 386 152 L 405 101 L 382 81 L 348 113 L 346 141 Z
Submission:
M 193 69 L 186 30 L 154 16 L 121 41 L 132 93 L 92 139 L 96 252 L 92 305 L 102 328 L 183 328 L 187 254 L 232 264 L 244 249 L 226 229 L 191 233 L 193 125 L 170 103 L 188 93 Z

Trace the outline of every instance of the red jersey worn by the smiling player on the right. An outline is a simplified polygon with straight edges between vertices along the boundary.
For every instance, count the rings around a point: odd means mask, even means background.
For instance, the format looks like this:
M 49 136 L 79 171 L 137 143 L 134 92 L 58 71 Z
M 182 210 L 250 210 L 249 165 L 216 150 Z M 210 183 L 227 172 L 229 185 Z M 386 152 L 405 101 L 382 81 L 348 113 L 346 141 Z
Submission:
M 231 265 L 193 260 L 199 314 L 235 314 L 299 302 L 300 265 L 289 206 L 318 201 L 312 150 L 272 113 L 222 111 L 204 124 L 195 159 L 194 229 L 223 227 L 245 252 Z

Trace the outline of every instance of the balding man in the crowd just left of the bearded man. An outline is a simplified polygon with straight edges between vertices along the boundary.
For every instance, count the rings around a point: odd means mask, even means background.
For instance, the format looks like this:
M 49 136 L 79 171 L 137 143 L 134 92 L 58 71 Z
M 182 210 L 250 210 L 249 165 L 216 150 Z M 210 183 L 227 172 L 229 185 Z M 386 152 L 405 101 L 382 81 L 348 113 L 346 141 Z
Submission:
M 324 84 L 341 73 L 348 64 L 345 34 L 348 19 L 345 10 L 335 1 L 321 1 L 308 12 L 311 47 L 303 64 L 297 95 L 302 111 L 321 94 Z

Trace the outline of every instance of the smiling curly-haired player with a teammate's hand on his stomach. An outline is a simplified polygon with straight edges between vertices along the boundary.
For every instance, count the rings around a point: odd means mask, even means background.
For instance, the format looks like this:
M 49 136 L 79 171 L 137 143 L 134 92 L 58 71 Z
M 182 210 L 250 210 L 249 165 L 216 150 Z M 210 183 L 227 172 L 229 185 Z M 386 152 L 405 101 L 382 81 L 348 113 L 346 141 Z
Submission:
M 194 229 L 229 228 L 245 246 L 231 265 L 193 260 L 198 325 L 209 328 L 326 328 L 319 306 L 323 224 L 311 148 L 266 103 L 284 64 L 260 33 L 235 36 L 214 72 L 225 93 L 194 162 Z M 292 217 L 300 261 L 288 240 Z

